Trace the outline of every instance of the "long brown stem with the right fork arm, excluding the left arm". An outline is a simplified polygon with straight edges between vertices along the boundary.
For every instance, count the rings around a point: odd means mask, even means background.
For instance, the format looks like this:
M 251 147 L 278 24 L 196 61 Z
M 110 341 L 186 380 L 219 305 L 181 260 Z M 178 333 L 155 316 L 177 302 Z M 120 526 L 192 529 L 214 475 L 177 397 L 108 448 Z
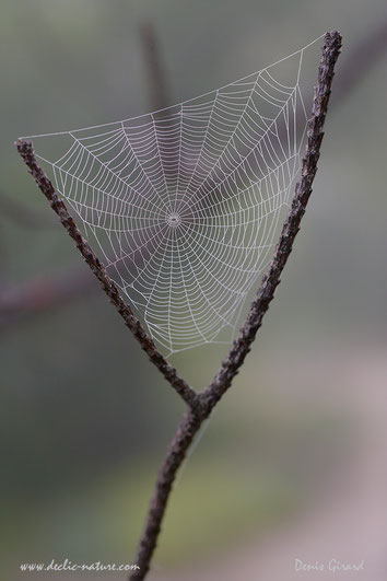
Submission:
M 294 239 L 300 230 L 300 223 L 312 194 L 312 184 L 316 175 L 317 161 L 324 137 L 322 127 L 327 114 L 333 70 L 340 49 L 341 35 L 338 32 L 327 33 L 318 70 L 318 83 L 315 88 L 312 119 L 308 124 L 308 139 L 306 154 L 302 165 L 301 181 L 296 185 L 292 207 L 288 220 L 283 225 L 275 255 L 271 260 L 268 272 L 263 277 L 246 323 L 239 332 L 239 337 L 234 341 L 228 357 L 222 363 L 210 386 L 199 396 L 200 414 L 189 412 L 185 416 L 169 446 L 160 470 L 148 513 L 145 530 L 142 534 L 136 557 L 136 562 L 140 569 L 131 574 L 130 580 L 139 581 L 145 578 L 150 568 L 152 554 L 156 546 L 161 523 L 176 473 L 203 419 L 210 416 L 212 409 L 228 390 L 234 376 L 243 364 L 250 350 L 257 330 L 261 326 L 263 315 L 274 297 L 275 288 L 280 283 L 281 272 L 292 252 Z

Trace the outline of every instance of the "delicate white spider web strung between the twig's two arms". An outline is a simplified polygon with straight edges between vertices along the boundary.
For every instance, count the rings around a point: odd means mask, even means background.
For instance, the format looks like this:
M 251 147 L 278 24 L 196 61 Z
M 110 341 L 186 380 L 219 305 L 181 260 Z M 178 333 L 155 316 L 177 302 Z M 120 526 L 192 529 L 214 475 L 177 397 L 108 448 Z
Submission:
M 168 355 L 230 342 L 272 255 L 305 143 L 305 48 L 159 112 L 33 136 L 62 141 L 38 156 Z

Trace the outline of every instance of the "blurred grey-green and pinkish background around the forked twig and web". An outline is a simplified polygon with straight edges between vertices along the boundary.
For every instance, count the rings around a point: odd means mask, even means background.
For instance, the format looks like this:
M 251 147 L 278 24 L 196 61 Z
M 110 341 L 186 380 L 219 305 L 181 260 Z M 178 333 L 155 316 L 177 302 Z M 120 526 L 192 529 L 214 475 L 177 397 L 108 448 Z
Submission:
M 356 579 L 387 578 L 385 2 L 2 0 L 1 579 L 52 558 L 131 562 L 183 412 L 13 141 L 189 98 L 332 28 L 343 53 L 312 204 L 253 355 L 184 466 L 150 579 L 288 581 L 295 558 L 365 559 Z M 203 386 L 223 355 L 173 363 Z

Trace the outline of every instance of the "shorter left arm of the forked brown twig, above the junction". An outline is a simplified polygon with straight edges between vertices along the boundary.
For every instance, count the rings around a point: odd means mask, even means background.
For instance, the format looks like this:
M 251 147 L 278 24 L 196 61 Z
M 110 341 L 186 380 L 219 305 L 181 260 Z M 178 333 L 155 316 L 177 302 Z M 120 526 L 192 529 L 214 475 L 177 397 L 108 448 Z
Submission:
M 142 327 L 140 321 L 133 315 L 130 306 L 122 300 L 116 284 L 107 275 L 103 264 L 89 246 L 87 242 L 79 231 L 75 222 L 69 214 L 64 202 L 57 196 L 51 182 L 48 179 L 42 167 L 37 164 L 32 142 L 19 139 L 16 142 L 16 148 L 25 164 L 28 166 L 30 173 L 37 183 L 40 191 L 50 202 L 52 210 L 59 216 L 63 228 L 66 228 L 69 236 L 71 236 L 74 241 L 77 248 L 82 254 L 92 272 L 99 280 L 99 283 L 103 290 L 106 292 L 109 301 L 117 309 L 118 313 L 124 318 L 125 324 L 139 341 L 141 349 L 145 351 L 152 363 L 154 363 L 167 382 L 169 382 L 172 387 L 183 397 L 186 404 L 195 409 L 198 405 L 197 393 L 188 385 L 185 380 L 178 376 L 176 370 L 169 365 L 163 355 L 157 350 L 153 340 Z

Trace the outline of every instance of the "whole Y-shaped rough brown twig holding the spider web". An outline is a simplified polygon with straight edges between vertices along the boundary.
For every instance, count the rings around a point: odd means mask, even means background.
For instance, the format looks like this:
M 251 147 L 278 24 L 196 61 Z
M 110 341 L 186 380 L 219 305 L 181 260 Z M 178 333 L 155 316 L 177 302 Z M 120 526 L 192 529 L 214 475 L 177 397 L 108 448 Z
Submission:
M 312 194 L 312 185 L 316 175 L 324 137 L 322 128 L 327 114 L 333 70 L 340 55 L 340 49 L 341 35 L 337 31 L 327 33 L 319 63 L 317 86 L 315 88 L 312 118 L 308 123 L 307 146 L 302 164 L 301 179 L 296 185 L 293 202 L 283 225 L 274 257 L 262 279 L 256 299 L 253 301 L 249 314 L 239 332 L 238 338 L 234 341 L 227 358 L 221 364 L 213 381 L 201 394 L 197 394 L 185 380 L 178 376 L 176 370 L 159 352 L 153 340 L 148 336 L 141 323 L 133 315 L 130 306 L 122 300 L 116 284 L 108 277 L 104 266 L 93 253 L 87 242 L 82 237 L 63 201 L 59 199 L 52 184 L 37 164 L 32 143 L 24 140 L 19 140 L 16 143 L 17 150 L 28 166 L 31 174 L 43 194 L 49 200 L 52 210 L 59 216 L 69 235 L 75 242 L 83 258 L 99 280 L 110 302 L 122 316 L 125 324 L 140 342 L 141 348 L 146 352 L 150 360 L 188 405 L 188 410 L 184 415 L 159 473 L 145 528 L 136 558 L 139 570 L 131 573 L 130 580 L 132 581 L 143 580 L 150 569 L 151 558 L 156 546 L 161 524 L 177 470 L 202 421 L 210 416 L 214 406 L 230 388 L 234 376 L 244 363 L 256 334 L 261 326 L 265 313 L 268 311 L 270 302 L 274 297 L 275 288 L 280 283 L 282 270 L 292 252 L 294 239 L 300 230 L 300 223 Z

